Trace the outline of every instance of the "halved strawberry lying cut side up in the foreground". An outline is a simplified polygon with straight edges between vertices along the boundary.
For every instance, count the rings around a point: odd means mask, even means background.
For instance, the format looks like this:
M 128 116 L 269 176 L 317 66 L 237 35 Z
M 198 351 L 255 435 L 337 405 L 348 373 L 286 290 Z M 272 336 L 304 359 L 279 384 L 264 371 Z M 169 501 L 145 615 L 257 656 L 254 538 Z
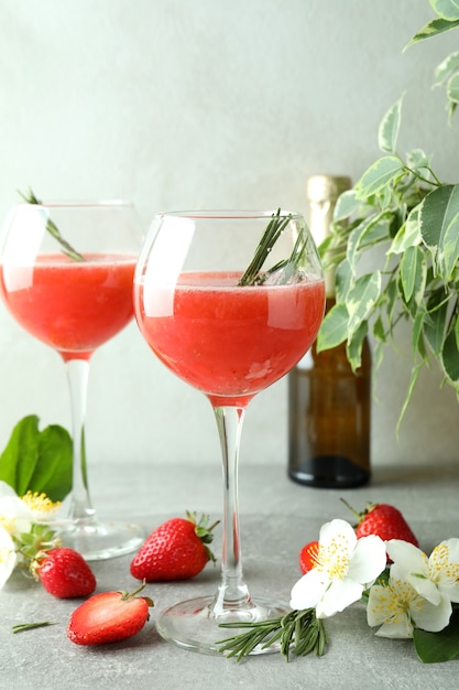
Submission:
M 136 635 L 150 618 L 149 596 L 135 596 L 145 585 L 128 592 L 95 594 L 74 611 L 67 637 L 76 645 L 106 645 Z

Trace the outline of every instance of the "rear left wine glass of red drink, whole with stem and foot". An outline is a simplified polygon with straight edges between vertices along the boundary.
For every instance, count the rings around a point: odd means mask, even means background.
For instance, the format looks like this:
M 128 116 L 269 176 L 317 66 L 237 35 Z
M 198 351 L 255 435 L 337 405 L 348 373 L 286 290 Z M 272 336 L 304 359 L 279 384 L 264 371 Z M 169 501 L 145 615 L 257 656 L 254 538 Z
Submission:
M 132 319 L 132 280 L 142 245 L 134 207 L 122 201 L 37 202 L 8 214 L 0 250 L 0 293 L 15 321 L 65 363 L 73 418 L 73 488 L 56 522 L 65 546 L 87 560 L 133 551 L 136 525 L 102 522 L 92 507 L 85 451 L 89 360 Z

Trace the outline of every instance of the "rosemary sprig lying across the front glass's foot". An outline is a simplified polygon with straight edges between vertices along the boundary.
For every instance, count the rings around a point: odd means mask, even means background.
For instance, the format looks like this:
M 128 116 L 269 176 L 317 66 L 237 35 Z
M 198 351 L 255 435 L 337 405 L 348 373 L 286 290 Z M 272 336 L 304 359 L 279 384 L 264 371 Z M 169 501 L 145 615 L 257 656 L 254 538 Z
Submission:
M 274 643 L 280 643 L 280 651 L 288 661 L 291 653 L 295 656 L 310 653 L 323 656 L 328 644 L 327 630 L 324 622 L 316 617 L 315 608 L 291 611 L 284 616 L 256 623 L 221 623 L 220 627 L 248 628 L 245 633 L 216 643 L 221 645 L 219 651 L 228 658 L 236 657 L 238 661 L 259 645 L 261 649 L 266 649 Z

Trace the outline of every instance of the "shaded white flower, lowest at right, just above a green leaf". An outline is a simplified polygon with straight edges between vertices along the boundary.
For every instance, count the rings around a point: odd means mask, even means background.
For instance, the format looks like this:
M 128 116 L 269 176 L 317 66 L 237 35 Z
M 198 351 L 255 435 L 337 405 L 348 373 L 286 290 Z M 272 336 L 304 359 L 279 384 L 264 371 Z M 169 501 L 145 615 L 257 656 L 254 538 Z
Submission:
M 367 621 L 371 627 L 381 625 L 380 637 L 413 637 L 414 626 L 438 633 L 449 623 L 451 604 L 440 595 L 438 604 L 427 601 L 407 582 L 398 578 L 394 565 L 387 585 L 374 584 L 370 590 Z

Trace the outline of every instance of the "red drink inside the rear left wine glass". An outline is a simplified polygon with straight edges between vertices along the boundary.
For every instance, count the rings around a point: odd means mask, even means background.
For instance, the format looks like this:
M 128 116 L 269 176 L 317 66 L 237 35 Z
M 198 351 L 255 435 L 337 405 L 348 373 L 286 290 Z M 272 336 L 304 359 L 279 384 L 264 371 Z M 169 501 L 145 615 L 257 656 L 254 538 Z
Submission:
M 87 359 L 133 316 L 134 256 L 46 255 L 33 266 L 0 266 L 2 297 L 29 333 L 64 359 Z

